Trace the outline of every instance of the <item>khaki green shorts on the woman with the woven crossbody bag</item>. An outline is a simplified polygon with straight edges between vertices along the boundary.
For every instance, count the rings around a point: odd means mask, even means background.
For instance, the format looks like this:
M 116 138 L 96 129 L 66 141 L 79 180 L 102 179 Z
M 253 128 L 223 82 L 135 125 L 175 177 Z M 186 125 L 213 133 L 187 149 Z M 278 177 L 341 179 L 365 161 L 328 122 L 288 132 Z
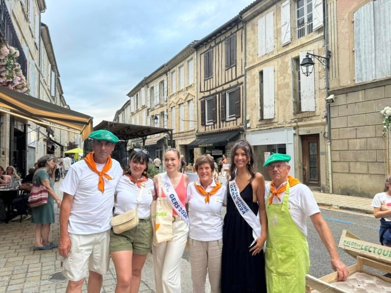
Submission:
M 121 234 L 110 231 L 110 252 L 131 250 L 135 254 L 148 254 L 152 248 L 151 220 L 139 219 L 138 225 Z

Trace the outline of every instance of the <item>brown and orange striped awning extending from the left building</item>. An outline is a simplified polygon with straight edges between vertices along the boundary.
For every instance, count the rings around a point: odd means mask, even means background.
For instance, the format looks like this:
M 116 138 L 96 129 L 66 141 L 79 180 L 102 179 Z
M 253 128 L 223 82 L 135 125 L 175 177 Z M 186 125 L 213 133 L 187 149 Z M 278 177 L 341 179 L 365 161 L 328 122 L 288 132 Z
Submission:
M 51 124 L 54 123 L 75 129 L 82 134 L 83 139 L 87 139 L 92 131 L 91 116 L 10 90 L 5 86 L 0 86 L 0 107 L 7 108 L 0 109 L 1 112 L 37 124 L 64 129 Z

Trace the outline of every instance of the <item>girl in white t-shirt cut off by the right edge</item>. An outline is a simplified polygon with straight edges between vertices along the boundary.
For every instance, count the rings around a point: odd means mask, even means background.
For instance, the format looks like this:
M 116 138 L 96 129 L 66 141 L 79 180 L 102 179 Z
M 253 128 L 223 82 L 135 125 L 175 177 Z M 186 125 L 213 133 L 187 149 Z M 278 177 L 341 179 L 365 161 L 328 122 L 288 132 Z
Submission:
M 379 241 L 391 247 L 391 176 L 385 181 L 384 192 L 373 198 L 372 207 L 375 218 L 380 218 Z

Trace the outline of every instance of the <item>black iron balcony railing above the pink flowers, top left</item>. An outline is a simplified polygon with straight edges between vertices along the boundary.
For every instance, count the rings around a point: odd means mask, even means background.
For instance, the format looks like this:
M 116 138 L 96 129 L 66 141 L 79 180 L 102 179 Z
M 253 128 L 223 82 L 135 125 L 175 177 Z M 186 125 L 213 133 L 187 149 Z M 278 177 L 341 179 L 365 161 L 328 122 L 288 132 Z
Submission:
M 18 35 L 16 34 L 15 27 L 12 24 L 11 15 L 8 12 L 7 5 L 4 0 L 0 2 L 0 34 L 6 42 L 19 50 L 19 57 L 17 58 L 23 75 L 27 79 L 27 59 L 24 55 L 22 45 L 20 44 Z

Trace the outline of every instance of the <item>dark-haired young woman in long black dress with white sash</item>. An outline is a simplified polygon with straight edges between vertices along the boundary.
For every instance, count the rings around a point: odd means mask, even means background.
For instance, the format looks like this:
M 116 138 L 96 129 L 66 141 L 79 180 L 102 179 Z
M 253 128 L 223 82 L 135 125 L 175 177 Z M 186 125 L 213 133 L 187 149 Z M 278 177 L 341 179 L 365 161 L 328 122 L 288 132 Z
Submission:
M 254 171 L 253 165 L 251 145 L 245 140 L 235 143 L 222 231 L 221 292 L 224 293 L 266 292 L 265 180 Z

